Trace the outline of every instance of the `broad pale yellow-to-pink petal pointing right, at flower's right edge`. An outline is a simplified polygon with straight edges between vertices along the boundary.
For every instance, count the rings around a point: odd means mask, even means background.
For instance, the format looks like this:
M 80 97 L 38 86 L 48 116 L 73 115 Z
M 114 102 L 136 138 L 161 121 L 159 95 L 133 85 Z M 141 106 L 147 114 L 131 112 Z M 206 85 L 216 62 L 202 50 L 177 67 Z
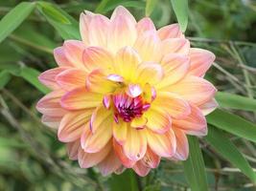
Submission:
M 196 105 L 207 102 L 216 93 L 216 88 L 209 81 L 192 75 L 187 75 L 168 89 Z

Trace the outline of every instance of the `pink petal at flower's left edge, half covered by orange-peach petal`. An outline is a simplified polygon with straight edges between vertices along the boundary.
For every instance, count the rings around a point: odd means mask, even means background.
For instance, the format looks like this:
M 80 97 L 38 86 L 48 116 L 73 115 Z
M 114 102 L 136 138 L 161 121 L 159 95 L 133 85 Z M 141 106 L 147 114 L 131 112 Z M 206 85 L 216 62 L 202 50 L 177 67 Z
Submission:
M 56 76 L 63 71 L 68 70 L 67 67 L 58 67 L 55 69 L 50 69 L 38 76 L 39 81 L 52 90 L 59 89 L 58 83 L 56 81 Z

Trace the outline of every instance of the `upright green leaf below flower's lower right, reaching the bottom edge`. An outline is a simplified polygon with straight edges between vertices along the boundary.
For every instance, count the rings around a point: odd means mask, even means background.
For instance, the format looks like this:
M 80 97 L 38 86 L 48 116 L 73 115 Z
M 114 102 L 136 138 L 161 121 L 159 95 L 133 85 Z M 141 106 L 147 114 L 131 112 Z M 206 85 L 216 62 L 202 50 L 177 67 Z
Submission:
M 207 191 L 208 184 L 205 173 L 205 166 L 198 138 L 188 137 L 189 140 L 189 158 L 183 162 L 185 177 L 189 182 L 192 191 Z

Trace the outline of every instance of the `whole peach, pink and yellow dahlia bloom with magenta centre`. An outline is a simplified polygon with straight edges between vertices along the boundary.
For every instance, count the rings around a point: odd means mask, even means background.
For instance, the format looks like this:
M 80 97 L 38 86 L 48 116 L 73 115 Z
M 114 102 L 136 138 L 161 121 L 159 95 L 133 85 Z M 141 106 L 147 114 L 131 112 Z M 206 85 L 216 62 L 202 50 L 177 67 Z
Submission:
M 215 59 L 191 48 L 177 24 L 156 30 L 124 7 L 108 19 L 85 11 L 80 40 L 54 51 L 58 67 L 39 76 L 52 92 L 37 103 L 70 159 L 103 175 L 146 176 L 160 159 L 187 159 L 187 135 L 205 136 L 215 87 L 203 79 Z

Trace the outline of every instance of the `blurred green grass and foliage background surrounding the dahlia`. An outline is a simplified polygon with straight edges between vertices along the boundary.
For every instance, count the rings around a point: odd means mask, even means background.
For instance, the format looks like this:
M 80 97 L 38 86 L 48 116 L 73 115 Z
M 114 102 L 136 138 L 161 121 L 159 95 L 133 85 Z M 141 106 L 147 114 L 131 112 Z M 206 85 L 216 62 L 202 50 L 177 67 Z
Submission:
M 0 0 L 0 18 L 20 2 Z M 127 7 L 140 19 L 145 16 L 146 7 L 143 0 L 47 2 L 58 4 L 77 21 L 83 10 L 109 15 L 118 5 Z M 151 18 L 158 28 L 175 23 L 171 1 L 157 1 Z M 216 63 L 206 78 L 220 91 L 255 97 L 255 0 L 190 0 L 186 36 L 192 46 L 216 53 Z M 180 162 L 163 160 L 149 176 L 139 179 L 131 171 L 122 176 L 102 177 L 97 169 L 81 169 L 77 161 L 67 158 L 64 145 L 58 142 L 53 130 L 42 125 L 35 111 L 36 101 L 44 92 L 36 76 L 56 67 L 52 51 L 61 43 L 59 32 L 37 10 L 0 43 L 0 190 L 131 191 L 134 189 L 124 187 L 124 182 L 129 180 L 141 191 L 189 190 Z M 239 115 L 255 121 L 252 113 L 239 112 Z M 256 167 L 255 146 L 242 138 L 227 136 Z M 256 190 L 250 180 L 203 139 L 200 147 L 211 190 Z

